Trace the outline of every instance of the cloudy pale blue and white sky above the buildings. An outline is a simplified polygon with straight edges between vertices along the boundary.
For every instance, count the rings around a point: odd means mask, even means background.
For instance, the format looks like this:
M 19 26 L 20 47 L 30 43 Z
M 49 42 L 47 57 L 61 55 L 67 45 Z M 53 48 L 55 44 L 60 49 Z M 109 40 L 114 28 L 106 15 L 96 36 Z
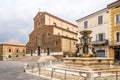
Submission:
M 25 44 L 34 27 L 33 18 L 46 11 L 71 23 L 106 8 L 116 0 L 0 0 L 0 43 Z

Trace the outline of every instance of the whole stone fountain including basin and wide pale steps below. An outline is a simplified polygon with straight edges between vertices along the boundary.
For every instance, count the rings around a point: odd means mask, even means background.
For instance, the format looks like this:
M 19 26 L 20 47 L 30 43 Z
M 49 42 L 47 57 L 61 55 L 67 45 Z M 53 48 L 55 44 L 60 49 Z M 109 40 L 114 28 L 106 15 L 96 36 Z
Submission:
M 96 56 L 94 47 L 91 44 L 91 33 L 92 31 L 90 30 L 80 32 L 81 38 L 80 44 L 78 45 L 79 50 L 77 50 L 78 52 L 74 57 L 63 58 L 64 64 L 52 65 L 52 62 L 50 62 L 52 70 L 51 78 L 53 78 L 53 73 L 55 71 L 59 72 L 62 70 L 60 73 L 65 73 L 64 80 L 66 80 L 66 75 L 68 72 L 75 75 L 77 73 L 80 77 L 84 77 L 85 80 L 95 80 L 95 78 L 104 75 L 104 73 L 116 73 L 116 80 L 118 80 L 120 67 L 114 66 L 113 58 L 99 58 Z

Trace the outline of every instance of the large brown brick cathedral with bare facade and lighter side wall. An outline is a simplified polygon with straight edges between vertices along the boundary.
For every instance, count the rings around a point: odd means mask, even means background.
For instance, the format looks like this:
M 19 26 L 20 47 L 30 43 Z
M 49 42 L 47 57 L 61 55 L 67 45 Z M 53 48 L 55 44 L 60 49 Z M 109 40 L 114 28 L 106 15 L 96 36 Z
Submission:
M 26 45 L 27 54 L 75 53 L 77 26 L 47 12 L 38 12 Z

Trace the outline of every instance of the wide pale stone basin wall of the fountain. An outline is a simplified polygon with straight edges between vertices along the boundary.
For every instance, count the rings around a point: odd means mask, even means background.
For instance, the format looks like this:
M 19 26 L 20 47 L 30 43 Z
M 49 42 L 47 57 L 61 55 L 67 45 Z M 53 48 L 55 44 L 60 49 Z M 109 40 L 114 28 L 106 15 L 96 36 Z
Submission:
M 89 67 L 111 67 L 114 66 L 113 58 L 80 58 L 67 57 L 63 58 L 65 65 L 72 65 L 75 67 L 89 66 Z

